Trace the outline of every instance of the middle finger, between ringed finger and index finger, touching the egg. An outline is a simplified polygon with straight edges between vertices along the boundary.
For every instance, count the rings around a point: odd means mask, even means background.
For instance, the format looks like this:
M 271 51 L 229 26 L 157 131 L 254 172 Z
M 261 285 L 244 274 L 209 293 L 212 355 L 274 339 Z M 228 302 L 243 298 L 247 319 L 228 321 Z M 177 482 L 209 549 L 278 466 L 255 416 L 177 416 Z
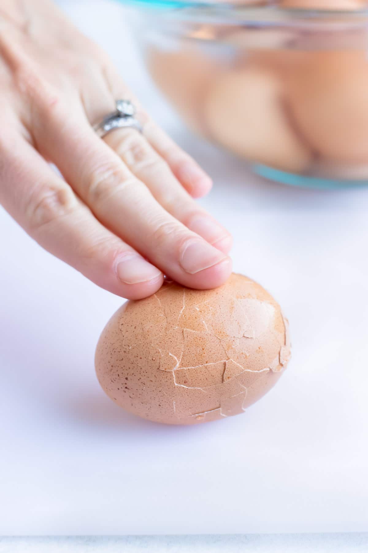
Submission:
M 228 278 L 231 260 L 164 210 L 84 117 L 59 106 L 43 133 L 46 155 L 97 218 L 153 265 L 193 288 Z

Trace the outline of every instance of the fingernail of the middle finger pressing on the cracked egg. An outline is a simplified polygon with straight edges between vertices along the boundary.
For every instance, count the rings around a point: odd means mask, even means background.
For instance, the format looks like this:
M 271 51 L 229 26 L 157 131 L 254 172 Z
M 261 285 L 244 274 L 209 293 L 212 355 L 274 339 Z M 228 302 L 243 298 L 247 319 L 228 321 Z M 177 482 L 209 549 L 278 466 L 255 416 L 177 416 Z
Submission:
M 195 274 L 220 263 L 226 255 L 219 252 L 204 240 L 189 240 L 183 246 L 180 265 L 186 273 Z

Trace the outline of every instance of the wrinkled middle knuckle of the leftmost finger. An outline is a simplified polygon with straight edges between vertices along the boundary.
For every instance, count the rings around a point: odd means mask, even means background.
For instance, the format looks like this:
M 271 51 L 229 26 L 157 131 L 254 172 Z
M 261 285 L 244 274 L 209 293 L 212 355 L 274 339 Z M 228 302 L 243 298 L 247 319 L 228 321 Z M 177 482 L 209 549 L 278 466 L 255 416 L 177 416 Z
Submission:
M 36 199 L 33 197 L 26 206 L 26 220 L 31 231 L 71 213 L 77 205 L 77 198 L 68 186 L 60 188 L 45 187 L 38 192 Z

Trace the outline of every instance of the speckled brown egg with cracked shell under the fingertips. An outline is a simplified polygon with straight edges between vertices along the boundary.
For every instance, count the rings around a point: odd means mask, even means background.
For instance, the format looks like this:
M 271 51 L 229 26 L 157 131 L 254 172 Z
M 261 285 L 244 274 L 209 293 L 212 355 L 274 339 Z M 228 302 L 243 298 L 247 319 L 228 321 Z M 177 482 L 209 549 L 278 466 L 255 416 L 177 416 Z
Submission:
M 243 413 L 290 357 L 287 321 L 262 286 L 233 274 L 215 290 L 165 283 L 128 301 L 99 339 L 102 388 L 122 408 L 167 424 Z

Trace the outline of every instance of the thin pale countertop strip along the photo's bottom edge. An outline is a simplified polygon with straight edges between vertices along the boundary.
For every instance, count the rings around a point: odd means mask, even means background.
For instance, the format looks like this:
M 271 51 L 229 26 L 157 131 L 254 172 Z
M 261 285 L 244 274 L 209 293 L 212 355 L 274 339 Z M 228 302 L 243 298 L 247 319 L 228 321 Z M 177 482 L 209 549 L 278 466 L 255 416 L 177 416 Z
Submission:
M 0 538 L 0 553 L 366 553 L 368 534 Z

